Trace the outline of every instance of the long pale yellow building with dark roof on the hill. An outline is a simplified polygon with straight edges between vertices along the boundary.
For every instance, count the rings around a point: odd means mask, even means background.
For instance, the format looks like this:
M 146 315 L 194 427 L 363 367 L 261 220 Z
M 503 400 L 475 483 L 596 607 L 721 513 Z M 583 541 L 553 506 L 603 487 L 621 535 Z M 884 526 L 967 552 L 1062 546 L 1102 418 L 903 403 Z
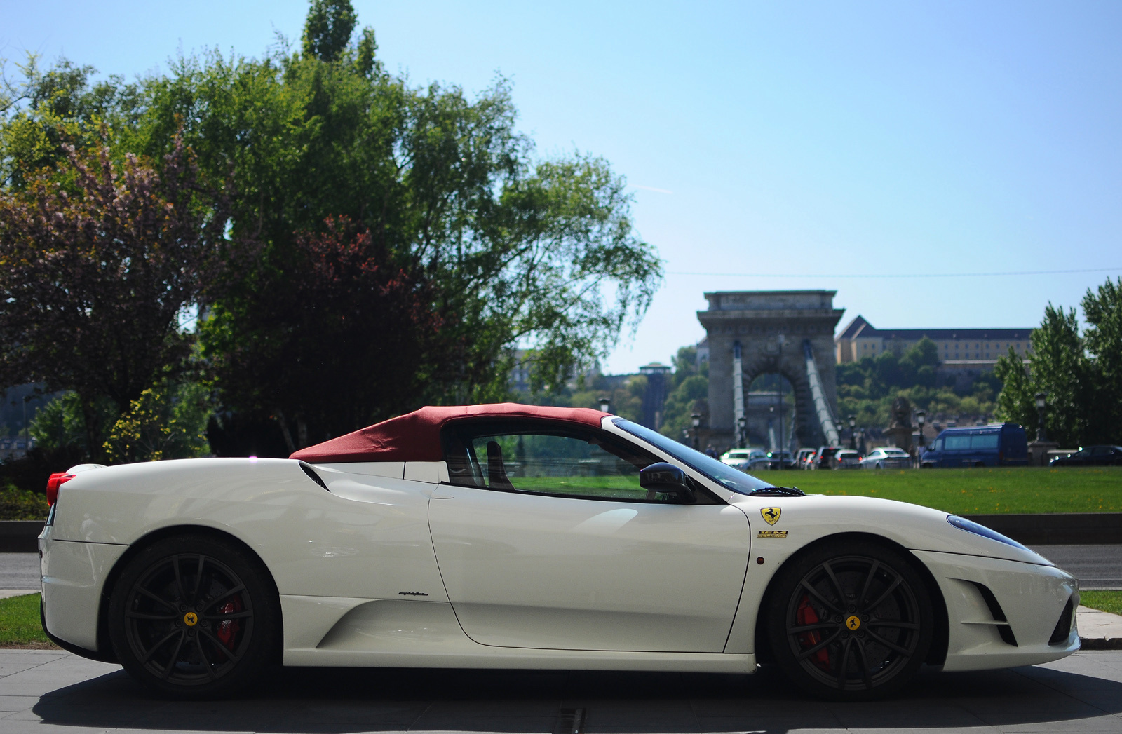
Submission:
M 835 337 L 838 364 L 859 361 L 885 351 L 902 355 L 927 337 L 939 348 L 939 373 L 953 377 L 956 387 L 968 387 L 997 364 L 1010 348 L 1028 359 L 1032 355 L 1032 329 L 877 329 L 857 316 Z

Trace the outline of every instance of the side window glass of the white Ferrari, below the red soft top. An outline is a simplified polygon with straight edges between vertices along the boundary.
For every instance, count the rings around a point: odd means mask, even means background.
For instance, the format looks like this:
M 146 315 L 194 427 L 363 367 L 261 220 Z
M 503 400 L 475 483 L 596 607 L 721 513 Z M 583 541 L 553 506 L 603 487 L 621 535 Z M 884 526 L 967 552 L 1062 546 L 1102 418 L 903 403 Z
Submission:
M 647 492 L 640 469 L 660 459 L 598 431 L 541 423 L 472 422 L 445 431 L 452 484 L 589 499 L 673 502 Z

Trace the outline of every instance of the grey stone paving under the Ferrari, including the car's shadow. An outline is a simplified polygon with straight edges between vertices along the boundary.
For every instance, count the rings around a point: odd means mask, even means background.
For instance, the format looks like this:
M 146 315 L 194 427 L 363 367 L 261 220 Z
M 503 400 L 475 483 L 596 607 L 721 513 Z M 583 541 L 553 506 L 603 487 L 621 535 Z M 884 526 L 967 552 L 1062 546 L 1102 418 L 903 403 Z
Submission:
M 901 696 L 835 704 L 755 676 L 594 671 L 350 670 L 277 673 L 236 700 L 155 698 L 118 666 L 0 650 L 3 734 L 554 732 L 1119 732 L 1122 651 L 1013 670 L 921 672 Z

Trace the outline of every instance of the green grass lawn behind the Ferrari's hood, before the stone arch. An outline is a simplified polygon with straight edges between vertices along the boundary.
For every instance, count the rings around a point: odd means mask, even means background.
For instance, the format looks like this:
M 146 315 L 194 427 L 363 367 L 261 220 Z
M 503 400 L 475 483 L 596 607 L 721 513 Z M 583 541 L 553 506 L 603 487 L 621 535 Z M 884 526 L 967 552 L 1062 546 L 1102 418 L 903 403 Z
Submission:
M 900 499 L 959 515 L 1122 512 L 1122 467 L 761 471 L 807 494 Z

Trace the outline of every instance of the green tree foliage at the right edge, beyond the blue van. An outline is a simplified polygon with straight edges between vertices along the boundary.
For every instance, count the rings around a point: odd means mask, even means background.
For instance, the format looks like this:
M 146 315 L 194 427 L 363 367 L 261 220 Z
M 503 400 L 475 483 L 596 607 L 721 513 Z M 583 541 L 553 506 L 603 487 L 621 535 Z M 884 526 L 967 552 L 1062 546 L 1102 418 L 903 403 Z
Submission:
M 1049 303 L 1032 332 L 1028 370 L 1012 352 L 999 359 L 1004 380 L 1001 414 L 1031 430 L 1039 423 L 1034 396 L 1047 394 L 1045 428 L 1063 446 L 1116 443 L 1122 420 L 1122 279 L 1087 290 L 1080 303 L 1087 329 L 1079 333 L 1075 309 Z

